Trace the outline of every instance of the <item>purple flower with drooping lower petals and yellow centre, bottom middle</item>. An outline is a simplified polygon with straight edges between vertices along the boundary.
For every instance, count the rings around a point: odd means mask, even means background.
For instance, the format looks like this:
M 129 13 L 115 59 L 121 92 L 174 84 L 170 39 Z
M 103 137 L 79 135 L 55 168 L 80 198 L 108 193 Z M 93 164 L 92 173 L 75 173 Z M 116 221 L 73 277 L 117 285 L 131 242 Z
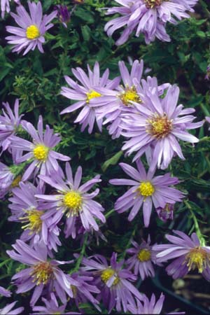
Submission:
M 137 280 L 128 269 L 123 269 L 124 260 L 117 262 L 117 254 L 113 253 L 108 264 L 102 255 L 94 255 L 83 258 L 81 269 L 90 272 L 94 276 L 94 283 L 101 290 L 97 297 L 102 300 L 104 306 L 111 312 L 113 308 L 117 311 L 127 311 L 127 304 L 133 304 L 134 297 L 141 300 L 141 293 L 134 287 L 131 281 Z

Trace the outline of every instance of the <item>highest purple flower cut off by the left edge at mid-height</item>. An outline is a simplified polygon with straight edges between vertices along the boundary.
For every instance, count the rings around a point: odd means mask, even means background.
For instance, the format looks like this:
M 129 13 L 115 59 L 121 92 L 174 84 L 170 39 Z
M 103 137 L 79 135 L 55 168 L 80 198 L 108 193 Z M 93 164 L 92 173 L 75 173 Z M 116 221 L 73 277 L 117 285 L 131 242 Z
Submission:
M 22 115 L 19 116 L 19 99 L 15 100 L 14 113 L 10 109 L 10 104 L 3 103 L 3 115 L 0 115 L 0 146 L 5 151 L 10 146 L 10 137 L 18 132 L 22 124 Z

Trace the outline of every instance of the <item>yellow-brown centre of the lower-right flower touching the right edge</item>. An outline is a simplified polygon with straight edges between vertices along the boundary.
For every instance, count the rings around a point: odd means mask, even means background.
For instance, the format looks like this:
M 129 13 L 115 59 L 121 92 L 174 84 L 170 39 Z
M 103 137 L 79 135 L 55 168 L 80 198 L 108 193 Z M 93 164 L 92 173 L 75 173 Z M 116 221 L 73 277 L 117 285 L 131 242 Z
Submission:
M 190 252 L 186 255 L 186 261 L 188 270 L 198 269 L 199 273 L 202 273 L 207 265 L 210 265 L 210 255 L 207 251 L 204 251 L 201 247 L 195 247 L 190 249 Z

